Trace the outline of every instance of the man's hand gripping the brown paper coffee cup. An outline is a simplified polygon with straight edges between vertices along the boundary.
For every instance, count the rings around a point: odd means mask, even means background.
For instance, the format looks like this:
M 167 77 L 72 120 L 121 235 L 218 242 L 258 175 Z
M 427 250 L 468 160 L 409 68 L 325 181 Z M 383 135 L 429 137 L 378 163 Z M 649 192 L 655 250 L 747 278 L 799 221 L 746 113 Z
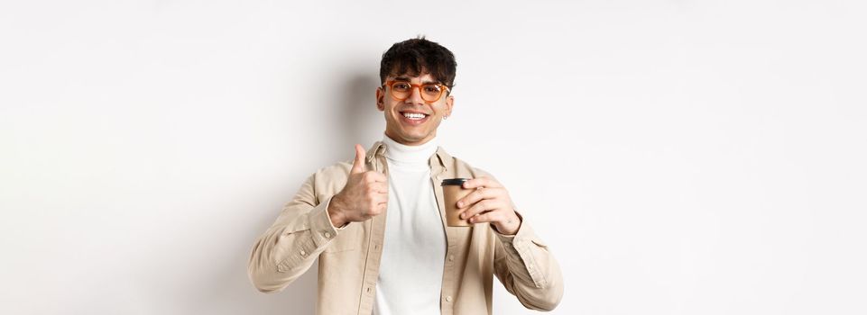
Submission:
M 491 222 L 501 234 L 514 235 L 521 227 L 521 218 L 512 208 L 512 198 L 505 187 L 493 178 L 478 177 L 464 182 L 465 189 L 476 188 L 457 201 L 457 208 L 470 206 L 461 219 L 469 218 L 470 223 Z

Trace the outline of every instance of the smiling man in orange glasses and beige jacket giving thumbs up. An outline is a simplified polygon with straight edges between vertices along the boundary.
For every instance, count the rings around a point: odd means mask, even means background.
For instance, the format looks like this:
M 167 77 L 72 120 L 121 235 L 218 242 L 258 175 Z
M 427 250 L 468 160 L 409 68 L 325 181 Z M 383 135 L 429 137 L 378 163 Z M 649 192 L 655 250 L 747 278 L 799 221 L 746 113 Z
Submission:
M 256 288 L 279 292 L 318 257 L 319 314 L 491 314 L 493 275 L 527 308 L 554 309 L 563 280 L 548 247 L 502 184 L 438 147 L 454 55 L 421 37 L 395 43 L 380 67 L 383 140 L 302 184 L 256 240 Z M 446 225 L 447 178 L 473 178 L 457 202 L 473 227 Z

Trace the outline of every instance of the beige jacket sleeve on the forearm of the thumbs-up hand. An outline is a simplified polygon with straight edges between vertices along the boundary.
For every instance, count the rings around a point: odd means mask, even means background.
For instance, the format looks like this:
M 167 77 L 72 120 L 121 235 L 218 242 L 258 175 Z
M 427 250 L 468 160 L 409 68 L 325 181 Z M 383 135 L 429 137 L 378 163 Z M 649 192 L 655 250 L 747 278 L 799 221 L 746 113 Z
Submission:
M 280 216 L 256 239 L 247 273 L 256 289 L 263 293 L 280 292 L 304 274 L 337 236 L 328 217 L 328 203 L 318 202 L 311 175 Z

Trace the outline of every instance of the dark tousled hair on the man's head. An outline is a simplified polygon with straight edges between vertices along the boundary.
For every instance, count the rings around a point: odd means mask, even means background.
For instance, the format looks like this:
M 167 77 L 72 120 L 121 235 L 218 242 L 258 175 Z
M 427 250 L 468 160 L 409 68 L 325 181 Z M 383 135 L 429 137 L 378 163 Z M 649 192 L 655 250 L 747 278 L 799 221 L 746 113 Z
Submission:
M 455 85 L 456 71 L 457 62 L 451 51 L 420 36 L 394 43 L 392 48 L 383 53 L 379 78 L 384 85 L 385 78 L 389 75 L 420 76 L 429 73 L 450 89 Z

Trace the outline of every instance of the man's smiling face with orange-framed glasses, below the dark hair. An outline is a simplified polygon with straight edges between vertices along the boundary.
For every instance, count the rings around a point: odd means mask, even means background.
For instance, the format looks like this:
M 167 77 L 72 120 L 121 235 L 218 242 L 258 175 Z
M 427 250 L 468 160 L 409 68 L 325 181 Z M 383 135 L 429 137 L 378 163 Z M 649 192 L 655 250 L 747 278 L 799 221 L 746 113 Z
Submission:
M 388 81 L 408 82 L 410 85 L 423 85 L 438 83 L 429 74 L 421 76 L 388 76 Z M 376 88 L 376 108 L 385 113 L 385 135 L 398 143 L 408 146 L 417 146 L 428 142 L 437 136 L 439 122 L 443 116 L 451 115 L 454 97 L 443 92 L 439 99 L 428 102 L 422 99 L 420 89 L 410 88 L 409 96 L 402 101 L 392 96 L 392 87 L 380 86 Z M 418 119 L 418 114 L 424 118 Z M 407 117 L 407 116 L 410 117 Z

